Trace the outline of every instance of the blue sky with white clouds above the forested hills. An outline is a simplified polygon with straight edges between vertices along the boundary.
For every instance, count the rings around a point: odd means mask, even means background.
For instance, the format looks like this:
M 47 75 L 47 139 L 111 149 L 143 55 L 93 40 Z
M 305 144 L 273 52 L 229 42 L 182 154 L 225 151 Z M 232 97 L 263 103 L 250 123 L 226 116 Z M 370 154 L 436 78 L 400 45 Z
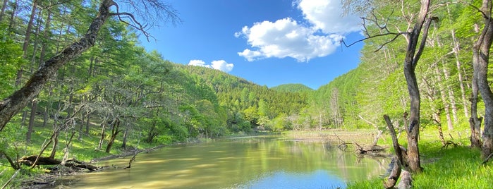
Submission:
M 360 19 L 339 0 L 166 0 L 183 23 L 150 30 L 141 44 L 174 63 L 216 68 L 258 85 L 312 89 L 356 68 Z

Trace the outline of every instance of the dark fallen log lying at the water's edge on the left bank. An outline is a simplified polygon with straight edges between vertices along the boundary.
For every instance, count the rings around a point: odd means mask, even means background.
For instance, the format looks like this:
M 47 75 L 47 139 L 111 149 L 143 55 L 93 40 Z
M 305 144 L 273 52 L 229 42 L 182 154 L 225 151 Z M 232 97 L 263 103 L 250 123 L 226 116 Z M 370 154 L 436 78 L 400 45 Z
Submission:
M 62 161 L 59 159 L 54 159 L 51 157 L 39 157 L 37 158 L 37 155 L 31 155 L 28 157 L 22 157 L 18 161 L 20 164 L 24 164 L 27 166 L 32 166 L 34 162 L 37 159 L 36 165 L 63 165 L 63 166 L 68 166 L 72 168 L 81 168 L 81 169 L 87 169 L 89 171 L 96 171 L 99 169 L 97 166 L 93 166 L 90 164 L 86 164 L 83 161 L 78 161 L 76 159 L 67 159 L 65 161 L 65 164 L 61 164 Z

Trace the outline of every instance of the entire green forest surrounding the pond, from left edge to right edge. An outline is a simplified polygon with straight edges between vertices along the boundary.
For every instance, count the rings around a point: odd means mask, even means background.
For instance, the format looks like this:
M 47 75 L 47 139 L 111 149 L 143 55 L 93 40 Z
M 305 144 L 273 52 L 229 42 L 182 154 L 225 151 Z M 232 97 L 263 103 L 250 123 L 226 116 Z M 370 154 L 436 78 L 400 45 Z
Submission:
M 99 6 L 99 1 L 83 0 L 2 3 L 1 99 L 29 83 L 45 61 L 85 35 Z M 51 157 L 60 156 L 62 135 L 72 135 L 71 140 L 99 138 L 91 148 L 110 152 L 116 144 L 125 148 L 129 140 L 160 144 L 281 130 L 382 129 L 384 114 L 405 130 L 411 102 L 403 66 L 410 39 L 400 35 L 410 30 L 420 2 L 394 5 L 375 5 L 368 20 L 382 21 L 365 25 L 358 68 L 317 90 L 300 84 L 269 89 L 211 68 L 166 61 L 140 46 L 139 28 L 108 18 L 94 46 L 61 66 L 2 127 L 0 157 L 22 156 L 28 153 L 21 149 L 24 145 L 42 145 Z M 488 35 L 483 28 L 492 22 L 485 21 L 490 13 L 480 1 L 430 6 L 427 16 L 439 20 L 427 28 L 424 51 L 415 64 L 419 120 L 426 127 L 468 129 L 473 145 L 480 147 L 482 116 L 485 124 L 492 124 L 487 116 L 492 105 L 482 100 L 492 66 L 489 57 L 482 56 L 485 67 L 475 68 L 473 57 L 477 51 L 489 54 L 489 46 L 478 50 L 477 41 Z M 487 129 L 491 127 L 485 125 Z M 37 130 L 51 131 L 46 135 Z M 47 136 L 51 146 L 30 143 L 34 135 Z

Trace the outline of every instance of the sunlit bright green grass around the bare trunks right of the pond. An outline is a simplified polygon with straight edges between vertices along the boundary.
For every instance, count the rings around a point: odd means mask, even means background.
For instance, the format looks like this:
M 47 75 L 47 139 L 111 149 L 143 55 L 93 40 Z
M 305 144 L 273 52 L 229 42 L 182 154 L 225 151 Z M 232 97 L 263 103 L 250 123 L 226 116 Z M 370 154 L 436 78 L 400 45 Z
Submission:
M 424 172 L 413 175 L 414 188 L 491 188 L 493 183 L 492 162 L 482 165 L 480 150 L 471 149 L 467 128 L 444 130 L 446 140 L 458 143 L 442 148 L 436 127 L 425 128 L 420 133 L 420 154 Z M 406 146 L 406 135 L 398 139 Z M 391 145 L 391 139 L 381 140 Z M 384 178 L 350 183 L 348 188 L 383 188 Z

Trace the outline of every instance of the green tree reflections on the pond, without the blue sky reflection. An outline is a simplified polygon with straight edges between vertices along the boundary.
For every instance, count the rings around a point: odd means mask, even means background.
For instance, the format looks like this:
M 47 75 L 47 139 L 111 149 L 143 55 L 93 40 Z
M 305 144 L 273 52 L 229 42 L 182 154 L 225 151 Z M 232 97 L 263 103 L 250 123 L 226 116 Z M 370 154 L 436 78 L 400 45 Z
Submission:
M 141 161 L 135 163 L 135 168 L 132 164 L 132 173 L 140 173 L 144 177 L 142 182 L 152 178 L 152 181 L 164 188 L 166 186 L 227 188 L 233 184 L 260 181 L 279 172 L 284 172 L 287 176 L 296 174 L 305 178 L 305 176 L 319 176 L 317 171 L 322 171 L 341 178 L 341 181 L 357 181 L 370 176 L 379 176 L 384 172 L 387 161 L 386 159 L 358 159 L 352 150 L 348 152 L 339 150 L 337 143 L 267 138 L 243 138 L 181 145 L 167 147 L 161 152 L 140 155 L 142 156 L 138 159 Z M 160 165 L 147 161 L 149 164 L 146 164 L 145 168 L 142 167 L 144 160 L 151 159 L 160 161 Z M 151 173 L 155 174 L 150 176 Z M 118 186 L 115 183 L 126 183 L 129 180 L 128 176 L 130 175 L 106 173 L 94 179 L 111 178 L 106 180 L 111 180 L 111 188 L 116 188 Z M 131 177 L 135 182 L 132 184 L 138 186 L 141 182 L 140 178 L 134 175 Z M 85 179 L 92 181 L 91 178 Z M 97 181 L 92 182 L 97 183 Z M 86 186 L 90 187 L 90 185 Z

